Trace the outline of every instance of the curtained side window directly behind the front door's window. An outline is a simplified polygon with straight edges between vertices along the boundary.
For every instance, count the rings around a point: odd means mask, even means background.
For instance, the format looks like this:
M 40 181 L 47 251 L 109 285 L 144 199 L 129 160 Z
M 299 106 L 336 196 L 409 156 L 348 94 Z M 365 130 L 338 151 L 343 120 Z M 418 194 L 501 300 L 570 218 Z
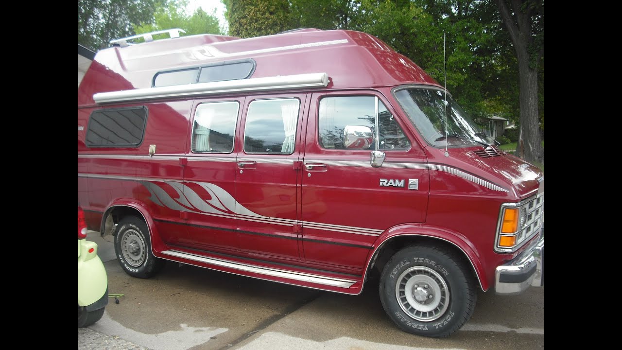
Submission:
M 299 111 L 297 98 L 251 102 L 244 128 L 244 152 L 294 153 Z

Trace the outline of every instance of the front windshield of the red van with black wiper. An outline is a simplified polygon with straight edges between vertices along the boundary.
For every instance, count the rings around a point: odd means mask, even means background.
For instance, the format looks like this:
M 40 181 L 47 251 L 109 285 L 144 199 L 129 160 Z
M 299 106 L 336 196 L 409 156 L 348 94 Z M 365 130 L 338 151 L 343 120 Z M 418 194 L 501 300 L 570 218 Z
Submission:
M 395 93 L 415 128 L 432 146 L 494 144 L 451 96 L 440 90 L 405 88 Z M 445 121 L 447 106 L 447 121 Z

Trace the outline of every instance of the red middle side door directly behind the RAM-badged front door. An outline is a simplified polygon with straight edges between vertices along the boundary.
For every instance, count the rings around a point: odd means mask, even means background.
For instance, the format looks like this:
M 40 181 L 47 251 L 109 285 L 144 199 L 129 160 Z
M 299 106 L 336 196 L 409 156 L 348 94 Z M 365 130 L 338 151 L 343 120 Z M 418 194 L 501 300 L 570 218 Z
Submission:
M 236 171 L 238 244 L 259 257 L 300 260 L 297 184 L 306 94 L 246 98 Z

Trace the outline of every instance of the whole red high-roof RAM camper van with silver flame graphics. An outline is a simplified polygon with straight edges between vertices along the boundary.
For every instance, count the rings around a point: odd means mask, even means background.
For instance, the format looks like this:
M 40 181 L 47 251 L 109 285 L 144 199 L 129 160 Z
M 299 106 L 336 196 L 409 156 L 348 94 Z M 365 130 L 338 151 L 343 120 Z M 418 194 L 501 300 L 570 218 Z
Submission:
M 446 337 L 478 289 L 544 285 L 544 176 L 442 85 L 356 31 L 191 35 L 97 52 L 78 203 L 121 267 L 165 260 L 357 295 Z

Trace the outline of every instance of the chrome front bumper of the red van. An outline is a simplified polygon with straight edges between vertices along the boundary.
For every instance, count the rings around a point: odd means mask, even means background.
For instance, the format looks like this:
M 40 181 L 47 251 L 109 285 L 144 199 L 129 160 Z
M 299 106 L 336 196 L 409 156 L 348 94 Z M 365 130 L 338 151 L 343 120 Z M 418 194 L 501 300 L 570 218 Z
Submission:
M 544 224 L 537 242 L 497 267 L 494 274 L 495 294 L 518 295 L 529 286 L 544 286 Z

